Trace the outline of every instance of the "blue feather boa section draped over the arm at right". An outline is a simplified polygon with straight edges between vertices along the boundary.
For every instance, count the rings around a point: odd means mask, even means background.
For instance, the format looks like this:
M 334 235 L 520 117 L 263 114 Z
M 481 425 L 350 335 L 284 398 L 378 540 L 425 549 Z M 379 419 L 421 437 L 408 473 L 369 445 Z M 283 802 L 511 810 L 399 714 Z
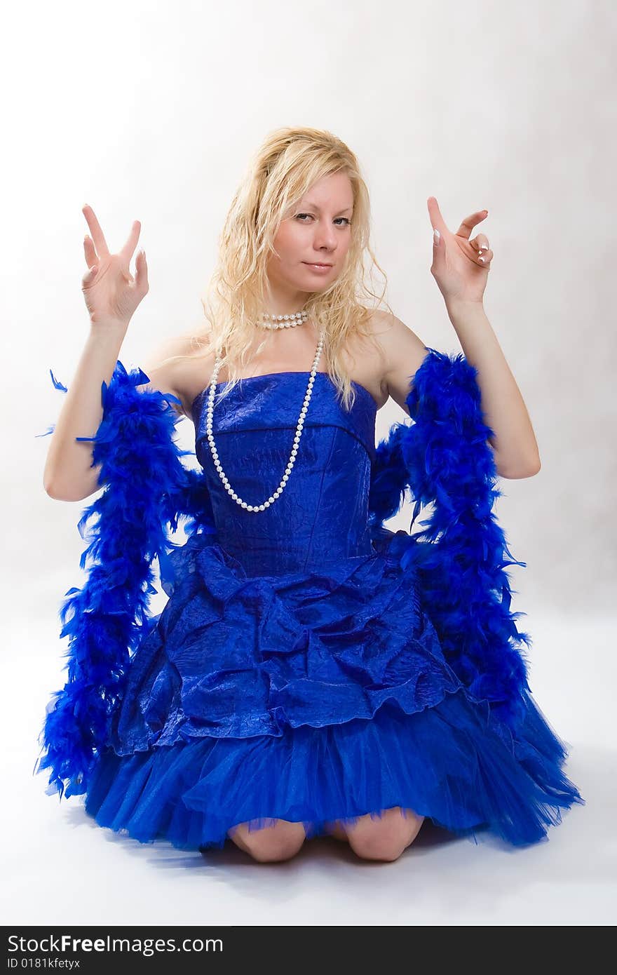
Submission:
M 398 532 L 403 568 L 417 570 L 423 600 L 457 677 L 490 706 L 491 723 L 503 736 L 525 714 L 527 663 L 512 612 L 506 566 L 512 558 L 492 512 L 501 495 L 483 420 L 477 370 L 462 353 L 428 348 L 406 397 L 412 424 L 396 423 L 376 449 L 369 507 L 373 532 L 393 517 L 408 488 L 414 499 L 410 528 L 432 504 L 423 530 Z

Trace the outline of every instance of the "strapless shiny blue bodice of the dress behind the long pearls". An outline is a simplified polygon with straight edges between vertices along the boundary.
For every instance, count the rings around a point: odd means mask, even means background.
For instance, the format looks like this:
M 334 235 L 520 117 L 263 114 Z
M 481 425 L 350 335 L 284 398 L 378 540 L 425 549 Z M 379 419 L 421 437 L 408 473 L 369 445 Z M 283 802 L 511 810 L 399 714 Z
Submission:
M 289 462 L 309 372 L 273 372 L 241 380 L 214 398 L 212 434 L 233 490 L 261 504 Z M 377 404 L 353 382 L 351 409 L 340 403 L 327 372 L 318 371 L 289 480 L 264 511 L 242 508 L 214 466 L 206 432 L 208 388 L 193 401 L 195 449 L 212 498 L 220 545 L 248 574 L 319 568 L 373 552 L 368 530 L 370 467 Z M 218 383 L 217 393 L 224 383 Z

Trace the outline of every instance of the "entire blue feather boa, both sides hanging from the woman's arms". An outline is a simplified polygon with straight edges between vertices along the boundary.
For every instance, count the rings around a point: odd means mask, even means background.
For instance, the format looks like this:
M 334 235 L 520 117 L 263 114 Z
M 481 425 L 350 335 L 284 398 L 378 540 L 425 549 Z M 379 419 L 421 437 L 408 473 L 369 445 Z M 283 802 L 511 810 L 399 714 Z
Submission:
M 499 733 L 512 736 L 524 714 L 520 643 L 529 638 L 515 624 L 521 613 L 510 610 L 505 566 L 525 564 L 504 557 L 511 553 L 491 511 L 501 492 L 476 374 L 462 354 L 427 347 L 406 398 L 413 422 L 393 425 L 376 448 L 369 518 L 373 536 L 388 538 L 402 567 L 417 572 L 448 663 L 472 696 L 489 703 Z M 60 798 L 88 790 L 132 652 L 152 618 L 154 560 L 161 576 L 173 574 L 169 551 L 177 545 L 170 531 L 179 518 L 188 535 L 216 530 L 204 473 L 181 459 L 194 451 L 174 442 L 178 401 L 136 388 L 147 382 L 142 370 L 128 372 L 118 361 L 109 385 L 101 385 L 95 437 L 77 438 L 93 443 L 103 490 L 78 525 L 89 541 L 81 559 L 82 568 L 90 563 L 88 578 L 65 593 L 60 609 L 68 679 L 52 697 L 39 736 L 45 754 L 35 770 L 50 769 L 47 792 Z M 433 504 L 433 513 L 420 523 L 423 531 L 394 535 L 383 522 L 399 511 L 407 489 L 415 502 L 411 526 L 423 506 Z

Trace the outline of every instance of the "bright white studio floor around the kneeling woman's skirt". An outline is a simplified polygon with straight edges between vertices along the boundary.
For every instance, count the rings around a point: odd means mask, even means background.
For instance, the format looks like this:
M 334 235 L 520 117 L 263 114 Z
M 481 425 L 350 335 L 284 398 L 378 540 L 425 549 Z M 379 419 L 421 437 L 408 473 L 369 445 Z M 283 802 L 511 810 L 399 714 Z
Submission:
M 452 839 L 425 823 L 393 863 L 312 839 L 285 863 L 259 864 L 231 843 L 204 857 L 102 830 L 80 799 L 32 775 L 37 736 L 60 674 L 54 608 L 43 631 L 7 634 L 2 654 L 4 924 L 560 925 L 617 919 L 617 732 L 612 619 L 523 618 L 530 683 L 570 745 L 567 774 L 586 800 L 549 840 L 525 849 Z

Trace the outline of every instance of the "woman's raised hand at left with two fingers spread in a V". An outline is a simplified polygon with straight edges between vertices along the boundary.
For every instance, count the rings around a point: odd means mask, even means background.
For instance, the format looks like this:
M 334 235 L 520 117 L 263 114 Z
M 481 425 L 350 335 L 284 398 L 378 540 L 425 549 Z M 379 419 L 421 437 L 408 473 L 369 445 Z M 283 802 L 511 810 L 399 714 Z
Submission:
M 118 254 L 109 254 L 104 235 L 92 207 L 82 213 L 92 238 L 84 238 L 84 254 L 89 267 L 82 278 L 82 292 L 90 321 L 94 326 L 119 323 L 126 328 L 142 297 L 148 293 L 148 269 L 143 251 L 135 257 L 135 278 L 129 270 L 139 239 L 141 224 L 134 220 L 127 243 Z

